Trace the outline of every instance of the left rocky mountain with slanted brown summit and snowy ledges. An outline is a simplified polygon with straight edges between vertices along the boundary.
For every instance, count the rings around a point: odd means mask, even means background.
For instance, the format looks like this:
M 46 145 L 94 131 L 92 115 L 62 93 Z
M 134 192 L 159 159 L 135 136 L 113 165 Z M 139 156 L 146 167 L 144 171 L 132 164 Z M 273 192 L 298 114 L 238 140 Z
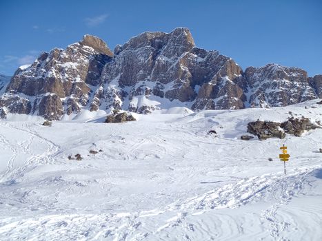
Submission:
M 30 67 L 18 69 L 0 99 L 6 112 L 37 114 L 58 120 L 89 105 L 101 70 L 112 59 L 106 44 L 85 35 L 66 50 L 41 54 Z

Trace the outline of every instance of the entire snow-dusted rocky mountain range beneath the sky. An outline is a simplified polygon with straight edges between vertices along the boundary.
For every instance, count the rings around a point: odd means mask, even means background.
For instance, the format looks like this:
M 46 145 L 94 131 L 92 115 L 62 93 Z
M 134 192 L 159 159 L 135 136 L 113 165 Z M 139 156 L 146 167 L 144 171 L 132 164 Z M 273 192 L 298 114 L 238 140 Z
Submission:
M 245 72 L 218 51 L 197 48 L 187 28 L 144 32 L 112 52 L 85 35 L 65 50 L 43 52 L 5 83 L 0 116 L 34 114 L 59 120 L 82 109 L 242 109 L 285 106 L 322 98 L 322 75 L 270 63 Z

